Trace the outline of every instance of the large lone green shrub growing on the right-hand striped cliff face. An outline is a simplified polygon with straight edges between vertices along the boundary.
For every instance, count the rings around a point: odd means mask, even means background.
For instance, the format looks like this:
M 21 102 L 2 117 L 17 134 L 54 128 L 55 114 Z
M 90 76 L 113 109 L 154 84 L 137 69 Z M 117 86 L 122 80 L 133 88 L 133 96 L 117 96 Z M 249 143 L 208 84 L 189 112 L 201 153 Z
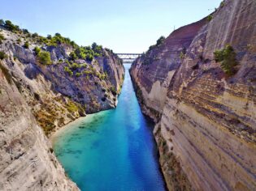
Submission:
M 236 73 L 236 65 L 238 62 L 236 61 L 236 52 L 231 45 L 226 45 L 224 49 L 216 50 L 214 55 L 215 62 L 220 62 L 221 69 L 228 74 L 228 76 L 232 76 Z

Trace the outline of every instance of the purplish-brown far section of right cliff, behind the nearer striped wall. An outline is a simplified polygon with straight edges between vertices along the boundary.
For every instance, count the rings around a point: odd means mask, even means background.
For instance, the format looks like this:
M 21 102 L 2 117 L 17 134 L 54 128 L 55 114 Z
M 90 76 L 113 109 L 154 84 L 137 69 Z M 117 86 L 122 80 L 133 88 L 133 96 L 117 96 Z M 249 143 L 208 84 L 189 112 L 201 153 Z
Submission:
M 189 48 L 194 36 L 206 23 L 202 19 L 172 32 L 161 45 L 149 50 L 132 64 L 130 73 L 141 96 L 143 112 L 158 121 L 163 113 L 167 89 L 180 66 L 181 54 Z

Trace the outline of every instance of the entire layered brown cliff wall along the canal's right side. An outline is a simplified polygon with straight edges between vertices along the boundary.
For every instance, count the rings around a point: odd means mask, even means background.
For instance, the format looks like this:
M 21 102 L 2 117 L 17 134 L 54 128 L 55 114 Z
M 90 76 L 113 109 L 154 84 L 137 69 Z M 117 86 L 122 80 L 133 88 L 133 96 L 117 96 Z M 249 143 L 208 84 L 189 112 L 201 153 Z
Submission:
M 169 53 L 171 60 L 160 56 L 163 64 L 159 61 L 158 66 L 154 61 L 145 64 L 141 57 L 132 65 L 132 79 L 142 108 L 158 111 L 150 116 L 157 122 L 154 135 L 170 190 L 256 189 L 254 18 L 254 0 L 224 1 L 210 21 L 199 21 L 202 25 L 197 32 L 192 30 L 193 40 L 188 38 L 184 56 Z M 184 28 L 191 30 L 189 26 Z M 162 46 L 176 49 L 172 48 L 176 43 L 168 42 L 176 32 L 150 57 L 165 55 Z M 232 45 L 239 62 L 231 77 L 214 57 L 215 50 L 225 45 Z M 159 74 L 164 74 L 165 88 L 154 87 L 161 82 Z M 158 97 L 150 96 L 150 92 Z M 163 106 L 154 107 L 154 102 Z M 145 109 L 144 112 L 148 113 Z

